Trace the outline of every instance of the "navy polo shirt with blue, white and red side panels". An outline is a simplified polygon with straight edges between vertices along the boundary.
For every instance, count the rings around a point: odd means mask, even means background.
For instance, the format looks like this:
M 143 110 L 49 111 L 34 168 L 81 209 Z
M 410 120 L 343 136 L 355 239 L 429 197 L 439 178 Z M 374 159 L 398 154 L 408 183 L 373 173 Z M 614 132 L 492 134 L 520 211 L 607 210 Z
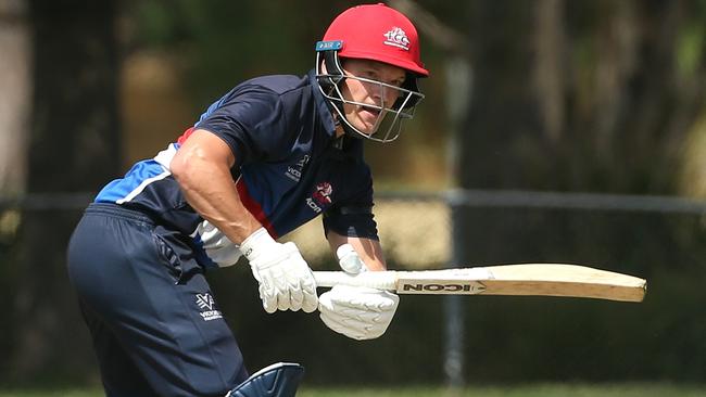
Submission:
M 345 137 L 337 143 L 335 128 L 313 72 L 303 78 L 254 78 L 213 103 L 177 142 L 105 185 L 96 202 L 142 210 L 189 235 L 194 249 L 203 251 L 203 218 L 186 202 L 168 167 L 188 136 L 204 129 L 232 150 L 231 174 L 240 198 L 273 236 L 324 215 L 326 230 L 377 240 L 363 141 Z M 213 265 L 207 257 L 202 262 Z

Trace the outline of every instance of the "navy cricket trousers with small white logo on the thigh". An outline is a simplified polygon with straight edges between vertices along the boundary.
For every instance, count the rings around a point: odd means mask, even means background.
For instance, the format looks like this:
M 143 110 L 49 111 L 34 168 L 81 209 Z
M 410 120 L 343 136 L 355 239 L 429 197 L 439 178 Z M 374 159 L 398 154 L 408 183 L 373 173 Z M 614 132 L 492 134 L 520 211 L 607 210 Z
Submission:
M 248 377 L 180 239 L 115 204 L 91 204 L 72 235 L 68 276 L 108 396 L 225 396 Z

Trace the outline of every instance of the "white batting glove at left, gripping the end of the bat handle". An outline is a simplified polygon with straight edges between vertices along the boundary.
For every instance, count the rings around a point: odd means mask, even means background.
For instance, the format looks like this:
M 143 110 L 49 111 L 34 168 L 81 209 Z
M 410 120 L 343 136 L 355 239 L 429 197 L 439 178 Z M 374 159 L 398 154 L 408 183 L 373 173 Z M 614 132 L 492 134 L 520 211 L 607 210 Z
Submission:
M 312 269 L 294 243 L 280 244 L 267 230 L 259 229 L 240 244 L 268 313 L 279 310 L 316 310 L 316 282 Z

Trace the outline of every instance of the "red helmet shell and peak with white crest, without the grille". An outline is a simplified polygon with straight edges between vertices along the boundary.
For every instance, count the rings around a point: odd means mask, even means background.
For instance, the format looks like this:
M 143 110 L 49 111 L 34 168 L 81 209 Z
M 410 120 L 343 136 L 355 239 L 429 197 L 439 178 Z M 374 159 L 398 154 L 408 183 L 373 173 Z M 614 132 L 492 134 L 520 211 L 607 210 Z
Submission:
M 383 62 L 429 76 L 419 54 L 417 29 L 401 12 L 383 3 L 357 5 L 333 20 L 323 41 L 342 41 L 341 57 Z

